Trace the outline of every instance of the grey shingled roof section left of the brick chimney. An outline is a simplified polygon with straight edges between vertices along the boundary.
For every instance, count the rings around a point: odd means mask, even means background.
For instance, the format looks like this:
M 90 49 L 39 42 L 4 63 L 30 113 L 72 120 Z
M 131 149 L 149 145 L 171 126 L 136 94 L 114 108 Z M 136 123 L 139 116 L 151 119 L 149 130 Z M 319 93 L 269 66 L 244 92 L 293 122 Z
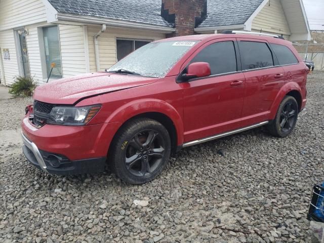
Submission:
M 173 27 L 161 17 L 160 0 L 48 0 L 59 12 Z

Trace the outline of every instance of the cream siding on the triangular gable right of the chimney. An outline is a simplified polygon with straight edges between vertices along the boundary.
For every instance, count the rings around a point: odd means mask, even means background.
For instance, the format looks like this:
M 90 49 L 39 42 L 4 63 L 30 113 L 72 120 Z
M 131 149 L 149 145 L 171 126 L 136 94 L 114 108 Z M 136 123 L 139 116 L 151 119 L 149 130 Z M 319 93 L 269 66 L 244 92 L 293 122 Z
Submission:
M 289 25 L 280 0 L 271 0 L 263 7 L 252 22 L 252 29 L 290 35 Z

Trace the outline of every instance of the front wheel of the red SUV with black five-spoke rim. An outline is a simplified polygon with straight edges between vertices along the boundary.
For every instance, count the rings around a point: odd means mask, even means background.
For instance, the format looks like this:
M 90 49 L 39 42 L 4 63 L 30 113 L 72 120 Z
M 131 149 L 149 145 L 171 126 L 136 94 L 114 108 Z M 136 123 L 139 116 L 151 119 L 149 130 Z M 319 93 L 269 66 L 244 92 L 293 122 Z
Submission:
M 171 139 L 158 121 L 137 118 L 116 134 L 108 154 L 116 175 L 131 184 L 153 180 L 168 164 Z

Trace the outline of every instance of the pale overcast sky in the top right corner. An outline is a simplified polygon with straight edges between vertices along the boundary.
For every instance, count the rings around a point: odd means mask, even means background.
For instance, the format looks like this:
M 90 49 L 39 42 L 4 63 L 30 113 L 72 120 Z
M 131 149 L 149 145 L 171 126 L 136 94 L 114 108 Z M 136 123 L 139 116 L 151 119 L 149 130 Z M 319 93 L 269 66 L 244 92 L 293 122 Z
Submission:
M 324 0 L 303 0 L 311 30 L 324 30 Z

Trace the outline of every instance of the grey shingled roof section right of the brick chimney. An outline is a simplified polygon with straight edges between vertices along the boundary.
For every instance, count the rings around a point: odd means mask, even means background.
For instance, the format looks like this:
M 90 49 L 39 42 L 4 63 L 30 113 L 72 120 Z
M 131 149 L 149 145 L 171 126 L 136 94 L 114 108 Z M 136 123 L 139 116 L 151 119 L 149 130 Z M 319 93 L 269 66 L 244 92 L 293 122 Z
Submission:
M 198 27 L 244 24 L 262 2 L 263 0 L 208 0 L 207 18 Z

